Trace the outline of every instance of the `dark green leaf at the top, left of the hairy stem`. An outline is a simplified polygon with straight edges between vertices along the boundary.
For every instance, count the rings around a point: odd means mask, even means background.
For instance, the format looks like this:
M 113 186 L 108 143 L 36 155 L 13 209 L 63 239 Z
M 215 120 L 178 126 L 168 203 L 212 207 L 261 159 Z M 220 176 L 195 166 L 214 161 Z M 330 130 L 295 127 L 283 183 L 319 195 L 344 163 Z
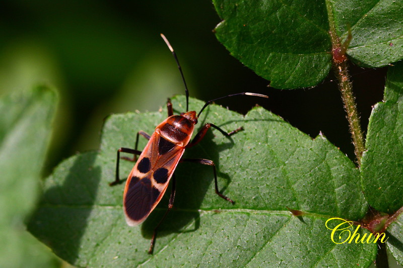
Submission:
M 324 2 L 213 3 L 223 20 L 215 29 L 218 40 L 273 87 L 311 86 L 327 76 L 331 43 Z

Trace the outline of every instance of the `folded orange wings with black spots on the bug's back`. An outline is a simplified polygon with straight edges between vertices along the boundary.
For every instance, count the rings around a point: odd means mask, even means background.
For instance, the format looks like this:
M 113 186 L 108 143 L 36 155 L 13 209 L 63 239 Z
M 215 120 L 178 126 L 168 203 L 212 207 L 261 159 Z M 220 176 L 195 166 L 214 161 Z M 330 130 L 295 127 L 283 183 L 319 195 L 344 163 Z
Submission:
M 184 148 L 154 133 L 127 177 L 123 208 L 130 226 L 142 223 L 158 205 Z

